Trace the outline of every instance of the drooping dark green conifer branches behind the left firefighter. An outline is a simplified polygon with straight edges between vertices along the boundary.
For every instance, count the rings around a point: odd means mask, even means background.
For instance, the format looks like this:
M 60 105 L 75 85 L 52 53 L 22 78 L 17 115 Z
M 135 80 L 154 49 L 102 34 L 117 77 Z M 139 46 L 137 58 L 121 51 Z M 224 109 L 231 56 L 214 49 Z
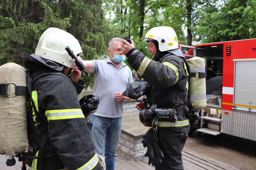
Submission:
M 102 57 L 113 37 L 106 24 L 101 0 L 5 0 L 0 2 L 0 64 L 23 65 L 20 52 L 33 54 L 42 33 L 56 27 L 80 42 L 83 59 Z M 86 85 L 93 75 L 83 74 Z

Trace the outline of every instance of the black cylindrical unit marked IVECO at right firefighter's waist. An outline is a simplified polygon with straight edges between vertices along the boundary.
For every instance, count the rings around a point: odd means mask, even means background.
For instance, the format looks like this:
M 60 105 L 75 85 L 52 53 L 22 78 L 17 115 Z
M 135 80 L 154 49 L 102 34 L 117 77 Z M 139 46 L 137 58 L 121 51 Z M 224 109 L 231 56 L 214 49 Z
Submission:
M 159 108 L 157 108 L 159 107 Z M 151 127 L 152 121 L 157 118 L 158 121 L 163 122 L 177 122 L 178 111 L 176 108 L 162 108 L 158 105 L 152 105 L 150 109 L 140 110 L 139 113 L 140 122 L 144 126 Z

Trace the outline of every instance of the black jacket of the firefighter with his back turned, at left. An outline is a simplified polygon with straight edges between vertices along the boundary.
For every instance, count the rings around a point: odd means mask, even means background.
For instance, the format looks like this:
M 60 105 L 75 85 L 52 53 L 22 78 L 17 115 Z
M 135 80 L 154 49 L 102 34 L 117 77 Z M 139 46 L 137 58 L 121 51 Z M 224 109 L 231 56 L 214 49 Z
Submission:
M 42 153 L 38 148 L 35 155 L 42 159 L 34 159 L 32 169 L 60 170 L 66 166 L 68 170 L 101 170 L 77 97 L 84 82 L 79 80 L 75 84 L 63 71 L 44 65 L 26 61 L 25 66 L 34 80 L 31 93 L 34 124 L 42 136 L 48 133 Z M 29 131 L 31 139 L 36 134 Z

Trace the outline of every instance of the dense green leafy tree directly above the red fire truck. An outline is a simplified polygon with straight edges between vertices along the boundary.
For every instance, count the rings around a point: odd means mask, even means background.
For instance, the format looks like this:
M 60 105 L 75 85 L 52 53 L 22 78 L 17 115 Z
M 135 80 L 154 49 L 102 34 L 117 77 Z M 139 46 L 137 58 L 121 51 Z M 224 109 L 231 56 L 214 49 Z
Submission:
M 201 8 L 197 40 L 202 43 L 256 38 L 256 1 L 223 0 L 218 9 Z M 204 17 L 203 17 L 204 16 Z

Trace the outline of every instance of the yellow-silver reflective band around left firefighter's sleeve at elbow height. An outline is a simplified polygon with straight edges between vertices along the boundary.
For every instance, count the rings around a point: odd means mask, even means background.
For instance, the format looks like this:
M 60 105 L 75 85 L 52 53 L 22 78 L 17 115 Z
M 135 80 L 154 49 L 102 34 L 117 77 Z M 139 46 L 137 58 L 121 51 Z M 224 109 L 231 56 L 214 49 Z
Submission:
M 46 110 L 45 116 L 47 120 L 73 119 L 84 118 L 81 109 L 61 109 L 61 110 Z

